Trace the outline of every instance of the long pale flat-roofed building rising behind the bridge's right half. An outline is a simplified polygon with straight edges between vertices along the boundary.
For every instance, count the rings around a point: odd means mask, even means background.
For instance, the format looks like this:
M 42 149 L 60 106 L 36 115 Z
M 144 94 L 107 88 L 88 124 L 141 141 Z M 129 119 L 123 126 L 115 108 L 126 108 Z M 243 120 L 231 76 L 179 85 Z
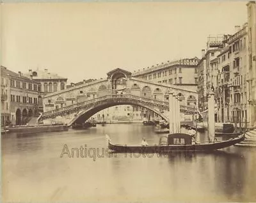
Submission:
M 134 71 L 132 73 L 133 77 L 138 77 L 143 80 L 150 80 L 150 82 L 158 82 L 161 84 L 169 84 L 173 86 L 186 87 L 191 91 L 196 91 L 198 83 L 198 61 L 197 57 L 191 59 L 179 59 L 174 61 L 167 61 L 166 63 L 156 64 L 143 68 L 143 70 Z M 193 77 L 191 77 L 193 75 Z M 180 95 L 184 101 L 184 95 Z M 157 99 L 157 92 L 155 95 Z M 196 99 L 186 98 L 187 103 L 182 103 L 183 105 L 196 105 Z M 133 114 L 141 120 L 159 120 L 160 117 L 154 112 L 147 110 L 145 108 L 133 107 Z M 138 116 L 137 116 L 138 115 Z M 139 116 L 140 115 L 140 116 Z

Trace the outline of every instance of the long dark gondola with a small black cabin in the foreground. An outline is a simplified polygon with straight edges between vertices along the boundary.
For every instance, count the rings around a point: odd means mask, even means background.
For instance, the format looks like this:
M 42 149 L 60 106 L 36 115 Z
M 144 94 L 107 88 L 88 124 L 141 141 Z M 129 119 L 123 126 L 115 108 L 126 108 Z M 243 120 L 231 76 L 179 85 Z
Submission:
M 165 144 L 159 143 L 159 145 L 154 146 L 127 146 L 112 144 L 108 135 L 106 135 L 106 140 L 108 148 L 119 153 L 165 153 L 172 151 L 214 151 L 242 142 L 244 140 L 244 136 L 245 135 L 243 134 L 225 141 L 193 144 L 193 138 L 191 135 L 185 133 L 173 133 L 166 137 L 167 140 Z

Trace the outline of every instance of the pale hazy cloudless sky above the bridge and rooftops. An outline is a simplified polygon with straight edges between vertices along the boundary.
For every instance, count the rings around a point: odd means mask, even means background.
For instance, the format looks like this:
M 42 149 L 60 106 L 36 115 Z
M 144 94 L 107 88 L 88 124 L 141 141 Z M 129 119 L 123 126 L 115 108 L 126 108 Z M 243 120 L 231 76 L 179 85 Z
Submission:
M 49 69 L 68 82 L 180 57 L 200 57 L 209 34 L 233 34 L 246 1 L 2 4 L 2 64 Z

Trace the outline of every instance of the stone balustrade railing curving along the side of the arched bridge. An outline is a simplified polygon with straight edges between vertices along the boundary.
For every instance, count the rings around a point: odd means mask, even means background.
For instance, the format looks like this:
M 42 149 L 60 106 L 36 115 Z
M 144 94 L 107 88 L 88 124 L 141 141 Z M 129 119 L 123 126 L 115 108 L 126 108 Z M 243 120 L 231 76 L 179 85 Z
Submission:
M 131 98 L 131 99 L 135 99 L 137 101 L 144 101 L 144 102 L 155 103 L 157 105 L 163 105 L 165 107 L 168 107 L 168 105 L 169 105 L 168 101 L 159 101 L 159 100 L 154 100 L 152 98 L 135 96 L 135 95 L 132 95 L 132 94 L 122 94 L 122 95 L 113 94 L 113 95 L 101 96 L 99 98 L 94 98 L 92 100 L 82 101 L 80 103 L 76 103 L 76 104 L 73 104 L 73 105 L 68 105 L 67 107 L 62 107 L 60 109 L 50 110 L 48 112 L 44 112 L 42 114 L 42 117 L 49 116 L 49 115 L 55 114 L 55 113 L 65 112 L 65 111 L 68 111 L 68 110 L 75 109 L 77 107 L 83 107 L 84 105 L 90 105 L 90 104 L 93 104 L 93 103 L 96 103 L 96 102 L 99 102 L 99 101 L 104 101 L 104 100 L 107 100 L 107 99 L 115 99 L 115 98 Z M 185 106 L 185 105 L 180 105 L 180 108 L 184 109 L 184 110 L 191 111 L 191 112 L 196 112 L 196 109 L 194 107 L 188 107 L 188 106 Z

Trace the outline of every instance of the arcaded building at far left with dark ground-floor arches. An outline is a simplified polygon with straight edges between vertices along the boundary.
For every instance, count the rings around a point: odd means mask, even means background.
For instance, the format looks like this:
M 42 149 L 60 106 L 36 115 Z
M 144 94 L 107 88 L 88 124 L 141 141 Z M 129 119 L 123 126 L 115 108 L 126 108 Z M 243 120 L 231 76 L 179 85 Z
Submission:
M 38 116 L 40 82 L 1 66 L 1 124 L 26 124 Z M 3 94 L 3 97 L 2 97 Z M 2 114 L 3 112 L 3 114 Z M 7 122 L 6 122 L 7 121 Z

